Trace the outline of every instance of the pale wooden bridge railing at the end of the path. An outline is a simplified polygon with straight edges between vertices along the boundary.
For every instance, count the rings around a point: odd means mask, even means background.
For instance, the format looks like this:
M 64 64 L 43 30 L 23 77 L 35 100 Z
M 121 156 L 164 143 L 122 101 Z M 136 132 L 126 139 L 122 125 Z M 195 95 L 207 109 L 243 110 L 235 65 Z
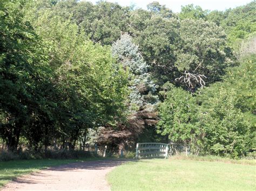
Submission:
M 165 143 L 137 143 L 136 158 L 167 158 L 168 150 Z

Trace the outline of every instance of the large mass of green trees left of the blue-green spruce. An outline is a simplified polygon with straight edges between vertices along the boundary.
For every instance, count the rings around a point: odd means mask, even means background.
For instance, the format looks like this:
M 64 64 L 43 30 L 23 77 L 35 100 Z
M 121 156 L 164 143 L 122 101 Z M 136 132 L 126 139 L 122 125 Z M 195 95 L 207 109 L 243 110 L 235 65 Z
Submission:
M 1 137 L 12 151 L 21 139 L 32 150 L 73 149 L 88 128 L 122 119 L 127 74 L 51 10 L 26 18 L 30 6 L 1 2 Z

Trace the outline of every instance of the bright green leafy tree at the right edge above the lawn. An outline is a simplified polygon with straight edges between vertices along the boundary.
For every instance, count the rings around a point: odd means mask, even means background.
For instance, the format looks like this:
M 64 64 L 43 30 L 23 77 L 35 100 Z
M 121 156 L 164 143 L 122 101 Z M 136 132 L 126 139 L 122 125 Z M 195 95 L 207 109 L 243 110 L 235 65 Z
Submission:
M 208 128 L 207 139 L 213 140 L 209 145 L 223 142 L 225 148 L 225 152 L 214 152 L 215 154 L 231 154 L 235 157 L 255 147 L 254 65 L 255 56 L 248 56 L 242 59 L 239 66 L 227 69 L 223 82 L 215 83 L 202 91 L 200 97 L 203 99 L 203 111 L 208 112 L 204 122 Z M 219 132 L 218 137 L 223 136 L 221 141 L 212 136 L 211 132 L 214 131 Z M 235 146 L 239 151 L 235 151 Z M 228 153 L 231 150 L 235 153 Z

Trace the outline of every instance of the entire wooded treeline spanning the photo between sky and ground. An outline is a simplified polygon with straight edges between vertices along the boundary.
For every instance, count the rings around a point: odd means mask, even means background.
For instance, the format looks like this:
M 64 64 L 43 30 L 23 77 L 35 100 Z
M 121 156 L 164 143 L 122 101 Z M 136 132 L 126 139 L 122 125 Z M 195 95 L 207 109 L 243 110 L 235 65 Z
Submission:
M 0 133 L 8 150 L 79 142 L 255 148 L 255 1 L 180 13 L 100 1 L 2 1 Z

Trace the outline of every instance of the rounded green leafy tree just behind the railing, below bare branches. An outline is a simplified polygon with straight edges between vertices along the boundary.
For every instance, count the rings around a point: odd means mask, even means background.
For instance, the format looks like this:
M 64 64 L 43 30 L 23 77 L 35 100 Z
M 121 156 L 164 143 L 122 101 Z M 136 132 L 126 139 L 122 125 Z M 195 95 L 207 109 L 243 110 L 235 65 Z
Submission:
M 173 142 L 197 145 L 201 127 L 195 98 L 187 91 L 174 87 L 163 94 L 165 100 L 159 107 L 158 132 L 169 135 Z

